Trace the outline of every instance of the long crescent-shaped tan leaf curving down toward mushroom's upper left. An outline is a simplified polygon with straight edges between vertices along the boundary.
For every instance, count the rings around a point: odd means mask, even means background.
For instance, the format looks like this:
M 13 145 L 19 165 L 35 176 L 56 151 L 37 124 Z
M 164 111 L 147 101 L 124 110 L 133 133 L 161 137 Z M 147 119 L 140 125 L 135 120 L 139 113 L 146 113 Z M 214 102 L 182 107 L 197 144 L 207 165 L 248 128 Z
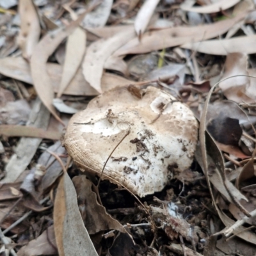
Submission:
M 66 28 L 56 29 L 55 31 L 52 31 L 52 33 L 44 36 L 39 44 L 36 45 L 31 56 L 31 76 L 36 92 L 45 104 L 46 108 L 49 109 L 52 115 L 61 123 L 62 121 L 58 116 L 56 109 L 52 105 L 54 90 L 51 78 L 49 77 L 49 74 L 47 74 L 46 63 L 49 56 L 51 56 L 62 40 L 70 35 L 77 26 L 79 26 L 84 15 L 85 12 L 77 20 L 71 22 Z

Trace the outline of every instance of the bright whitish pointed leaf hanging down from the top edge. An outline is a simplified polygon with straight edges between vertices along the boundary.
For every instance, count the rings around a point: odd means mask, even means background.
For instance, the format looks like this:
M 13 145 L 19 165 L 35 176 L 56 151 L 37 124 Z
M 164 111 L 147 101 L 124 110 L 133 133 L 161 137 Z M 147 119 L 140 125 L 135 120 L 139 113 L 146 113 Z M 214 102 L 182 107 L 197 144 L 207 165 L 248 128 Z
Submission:
M 141 6 L 134 21 L 134 29 L 138 36 L 145 32 L 158 3 L 159 0 L 146 0 Z

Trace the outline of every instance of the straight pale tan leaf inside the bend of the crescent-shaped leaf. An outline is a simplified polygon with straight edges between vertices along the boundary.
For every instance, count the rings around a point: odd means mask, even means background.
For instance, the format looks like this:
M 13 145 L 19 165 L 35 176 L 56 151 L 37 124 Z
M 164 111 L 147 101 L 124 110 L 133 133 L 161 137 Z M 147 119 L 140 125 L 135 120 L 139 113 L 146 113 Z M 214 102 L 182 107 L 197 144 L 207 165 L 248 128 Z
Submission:
M 68 36 L 66 45 L 66 56 L 63 66 L 63 74 L 61 76 L 60 87 L 57 97 L 65 91 L 70 81 L 76 75 L 77 69 L 81 64 L 86 47 L 86 33 L 81 28 L 76 28 L 74 32 Z

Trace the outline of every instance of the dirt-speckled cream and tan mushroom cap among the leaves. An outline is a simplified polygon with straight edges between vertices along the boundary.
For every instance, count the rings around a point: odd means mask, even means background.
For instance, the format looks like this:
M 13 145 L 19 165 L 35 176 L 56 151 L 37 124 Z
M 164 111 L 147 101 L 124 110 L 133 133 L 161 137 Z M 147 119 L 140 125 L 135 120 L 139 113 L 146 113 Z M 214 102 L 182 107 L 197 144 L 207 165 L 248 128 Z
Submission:
M 72 116 L 63 145 L 82 170 L 141 197 L 161 191 L 193 161 L 198 123 L 191 110 L 155 87 L 115 88 Z

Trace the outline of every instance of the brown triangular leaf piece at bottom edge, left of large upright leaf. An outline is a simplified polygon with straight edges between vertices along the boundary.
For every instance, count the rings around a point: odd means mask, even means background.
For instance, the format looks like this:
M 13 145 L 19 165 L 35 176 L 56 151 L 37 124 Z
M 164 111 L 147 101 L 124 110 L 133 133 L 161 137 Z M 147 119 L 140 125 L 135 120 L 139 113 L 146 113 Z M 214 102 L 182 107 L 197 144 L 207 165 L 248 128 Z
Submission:
M 27 245 L 23 246 L 18 256 L 37 256 L 37 255 L 53 255 L 57 254 L 56 239 L 54 235 L 53 225 L 45 230 L 36 239 L 30 241 Z

